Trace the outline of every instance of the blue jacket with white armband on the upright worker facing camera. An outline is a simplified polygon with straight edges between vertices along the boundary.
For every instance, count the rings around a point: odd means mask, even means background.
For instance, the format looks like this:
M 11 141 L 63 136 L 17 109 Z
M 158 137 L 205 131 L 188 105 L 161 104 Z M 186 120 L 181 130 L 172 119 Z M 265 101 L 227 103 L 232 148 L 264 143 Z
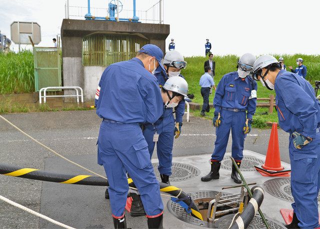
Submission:
M 221 107 L 247 110 L 247 118 L 252 119 L 256 107 L 256 82 L 247 76 L 242 80 L 237 72 L 225 74 L 215 90 L 213 106 L 216 112 Z

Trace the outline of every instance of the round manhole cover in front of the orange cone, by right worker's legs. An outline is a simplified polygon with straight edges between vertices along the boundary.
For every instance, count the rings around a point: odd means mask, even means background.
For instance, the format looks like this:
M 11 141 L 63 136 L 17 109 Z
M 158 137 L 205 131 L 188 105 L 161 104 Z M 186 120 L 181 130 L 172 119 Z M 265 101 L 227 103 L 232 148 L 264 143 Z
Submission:
M 290 178 L 274 178 L 263 183 L 263 189 L 277 198 L 293 202 L 291 194 Z M 318 195 L 318 202 L 320 202 L 320 195 Z

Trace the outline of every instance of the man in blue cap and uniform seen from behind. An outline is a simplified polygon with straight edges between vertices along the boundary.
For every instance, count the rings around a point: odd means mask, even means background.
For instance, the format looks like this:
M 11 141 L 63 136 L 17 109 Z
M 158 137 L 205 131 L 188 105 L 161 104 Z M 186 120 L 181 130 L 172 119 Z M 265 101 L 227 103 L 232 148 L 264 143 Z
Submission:
M 163 204 L 147 142 L 139 123 L 155 123 L 163 103 L 153 73 L 161 65 L 162 51 L 143 46 L 137 56 L 108 66 L 95 94 L 96 114 L 102 118 L 97 159 L 109 182 L 115 228 L 126 228 L 124 207 L 130 174 L 144 205 L 149 228 L 162 228 Z

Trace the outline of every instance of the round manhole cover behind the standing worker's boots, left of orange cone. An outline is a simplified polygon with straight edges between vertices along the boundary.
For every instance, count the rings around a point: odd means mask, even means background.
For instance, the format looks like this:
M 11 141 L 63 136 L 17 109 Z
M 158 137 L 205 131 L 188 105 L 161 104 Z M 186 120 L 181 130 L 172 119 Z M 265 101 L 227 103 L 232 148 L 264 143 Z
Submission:
M 241 171 L 254 171 L 255 165 L 264 164 L 264 161 L 254 157 L 254 156 L 243 156 L 241 161 L 240 170 Z M 221 161 L 221 168 L 231 170 L 232 161 L 228 156 L 224 156 L 223 160 Z

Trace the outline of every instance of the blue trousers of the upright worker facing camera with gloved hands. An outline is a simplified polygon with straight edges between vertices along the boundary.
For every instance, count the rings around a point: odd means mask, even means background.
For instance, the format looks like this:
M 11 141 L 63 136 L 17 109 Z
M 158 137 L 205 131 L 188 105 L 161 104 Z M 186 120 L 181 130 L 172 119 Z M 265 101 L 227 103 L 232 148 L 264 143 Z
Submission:
M 215 128 L 216 139 L 214 150 L 211 155 L 212 160 L 221 161 L 223 159 L 226 145 L 228 144 L 230 129 L 232 135 L 231 153 L 234 160 L 242 160 L 243 144 L 246 134 L 243 132 L 243 126 L 246 119 L 245 111 L 233 112 L 221 109 L 221 124 Z

